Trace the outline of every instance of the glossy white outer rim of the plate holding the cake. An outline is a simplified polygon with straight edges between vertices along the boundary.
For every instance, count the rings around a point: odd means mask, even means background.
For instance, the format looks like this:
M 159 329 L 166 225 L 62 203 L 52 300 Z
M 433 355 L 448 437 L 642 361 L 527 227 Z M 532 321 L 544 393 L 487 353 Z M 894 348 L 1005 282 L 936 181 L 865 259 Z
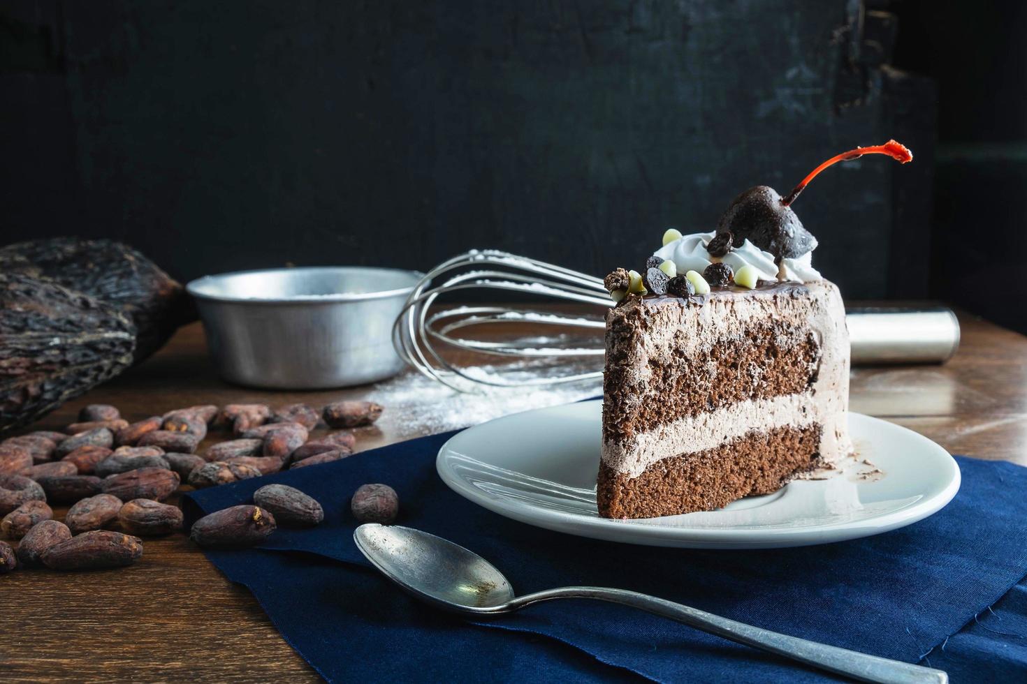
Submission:
M 473 431 L 482 426 L 492 423 L 505 421 L 510 418 L 524 419 L 528 414 L 551 411 L 554 409 L 574 406 L 578 404 L 593 404 L 602 402 L 602 399 L 591 399 L 571 404 L 559 404 L 535 408 L 528 411 L 512 413 L 500 416 L 466 428 L 456 435 L 450 437 L 440 447 L 435 457 L 435 472 L 442 481 L 460 496 L 466 498 L 477 506 L 492 511 L 498 515 L 511 520 L 517 520 L 533 527 L 540 527 L 565 534 L 584 536 L 595 539 L 609 540 L 614 542 L 626 542 L 642 546 L 679 547 L 692 549 L 776 549 L 789 547 L 812 546 L 820 544 L 832 544 L 849 539 L 862 538 L 889 532 L 915 522 L 919 522 L 938 513 L 945 508 L 956 493 L 962 482 L 962 474 L 959 465 L 952 454 L 944 449 L 934 440 L 923 435 L 905 428 L 903 426 L 877 418 L 864 413 L 849 411 L 849 418 L 857 420 L 867 420 L 871 425 L 883 424 L 887 429 L 895 429 L 907 433 L 909 437 L 929 445 L 931 451 L 937 453 L 930 455 L 937 458 L 940 464 L 944 464 L 948 470 L 948 481 L 945 486 L 933 495 L 924 495 L 913 505 L 890 511 L 879 516 L 863 520 L 831 523 L 806 528 L 769 528 L 769 529 L 738 529 L 738 528 L 689 528 L 679 526 L 650 525 L 633 520 L 619 520 L 610 518 L 593 518 L 581 516 L 580 514 L 566 513 L 539 508 L 518 507 L 507 502 L 503 498 L 491 497 L 479 491 L 463 478 L 456 475 L 446 464 L 446 454 L 450 451 L 458 453 L 451 448 L 451 444 L 469 431 Z M 944 454 L 944 457 L 942 457 Z M 526 512 L 527 511 L 527 512 Z

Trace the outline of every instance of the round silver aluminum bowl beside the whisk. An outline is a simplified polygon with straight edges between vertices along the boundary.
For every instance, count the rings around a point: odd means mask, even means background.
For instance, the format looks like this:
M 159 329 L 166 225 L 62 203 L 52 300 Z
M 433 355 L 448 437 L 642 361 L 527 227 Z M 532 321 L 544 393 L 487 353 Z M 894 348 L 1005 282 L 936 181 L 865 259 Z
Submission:
M 421 276 L 365 267 L 268 269 L 204 276 L 186 289 L 226 380 L 320 390 L 403 368 L 392 322 Z

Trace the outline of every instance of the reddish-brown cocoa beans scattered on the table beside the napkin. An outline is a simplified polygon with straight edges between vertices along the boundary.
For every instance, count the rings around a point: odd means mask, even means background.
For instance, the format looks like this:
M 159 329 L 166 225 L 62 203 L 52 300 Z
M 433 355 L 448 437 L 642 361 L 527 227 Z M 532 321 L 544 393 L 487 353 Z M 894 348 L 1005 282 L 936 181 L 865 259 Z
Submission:
M 211 487 L 305 468 L 353 453 L 353 428 L 381 415 L 379 404 L 343 401 L 316 411 L 305 404 L 190 406 L 136 423 L 91 404 L 67 432 L 37 431 L 0 442 L 0 574 L 16 567 L 90 570 L 132 564 L 141 537 L 182 530 L 182 511 L 165 504 L 181 487 Z M 338 429 L 311 437 L 311 432 Z M 202 453 L 210 431 L 230 438 Z M 325 517 L 319 502 L 280 484 L 261 487 L 253 505 L 207 515 L 190 538 L 203 548 L 259 544 L 279 525 L 309 527 Z M 70 506 L 64 522 L 51 505 Z M 362 522 L 389 523 L 398 499 L 387 485 L 364 485 L 351 499 Z M 116 527 L 117 529 L 109 529 Z

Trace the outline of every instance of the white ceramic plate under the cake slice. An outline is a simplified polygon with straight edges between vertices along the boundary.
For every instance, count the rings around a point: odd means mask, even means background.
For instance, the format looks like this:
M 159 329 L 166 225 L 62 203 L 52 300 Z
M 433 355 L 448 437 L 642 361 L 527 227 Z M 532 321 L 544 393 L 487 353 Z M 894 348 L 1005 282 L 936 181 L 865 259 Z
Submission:
M 956 461 L 926 437 L 849 413 L 860 459 L 849 471 L 798 480 L 719 511 L 609 520 L 596 510 L 600 401 L 541 408 L 461 432 L 439 452 L 439 475 L 490 511 L 546 529 L 610 541 L 693 549 L 802 547 L 880 534 L 937 513 L 959 489 Z M 867 470 L 853 460 L 853 466 Z

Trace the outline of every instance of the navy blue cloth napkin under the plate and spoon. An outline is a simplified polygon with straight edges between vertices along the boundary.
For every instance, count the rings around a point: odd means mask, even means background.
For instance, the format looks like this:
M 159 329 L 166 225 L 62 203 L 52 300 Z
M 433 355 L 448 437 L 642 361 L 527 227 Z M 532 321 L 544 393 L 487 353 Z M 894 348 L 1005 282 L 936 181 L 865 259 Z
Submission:
M 424 606 L 380 576 L 353 545 L 349 497 L 367 482 L 398 492 L 398 523 L 479 553 L 519 593 L 620 587 L 805 639 L 929 661 L 953 676 L 1027 677 L 1027 585 L 1018 584 L 1027 573 L 1027 469 L 958 458 L 962 486 L 948 507 L 866 539 L 767 551 L 657 549 L 549 532 L 470 504 L 435 474 L 435 454 L 452 434 L 192 492 L 184 499 L 187 521 L 249 502 L 270 482 L 321 501 L 319 527 L 279 529 L 260 549 L 207 556 L 248 587 L 286 640 L 333 681 L 832 680 L 599 602 L 555 601 L 485 622 Z

